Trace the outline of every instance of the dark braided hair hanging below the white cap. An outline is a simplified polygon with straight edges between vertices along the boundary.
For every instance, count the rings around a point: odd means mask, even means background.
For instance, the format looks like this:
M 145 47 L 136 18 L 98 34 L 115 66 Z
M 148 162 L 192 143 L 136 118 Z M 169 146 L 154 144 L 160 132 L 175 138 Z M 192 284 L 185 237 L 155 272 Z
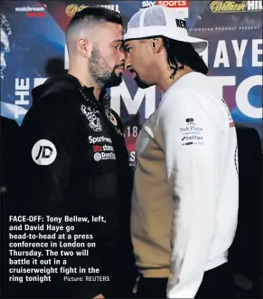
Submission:
M 178 70 L 182 70 L 184 65 L 189 66 L 195 72 L 208 73 L 208 67 L 197 53 L 192 43 L 184 43 L 163 37 L 164 47 L 167 52 L 167 63 L 173 70 L 171 79 L 174 78 Z M 180 63 L 181 65 L 179 65 Z

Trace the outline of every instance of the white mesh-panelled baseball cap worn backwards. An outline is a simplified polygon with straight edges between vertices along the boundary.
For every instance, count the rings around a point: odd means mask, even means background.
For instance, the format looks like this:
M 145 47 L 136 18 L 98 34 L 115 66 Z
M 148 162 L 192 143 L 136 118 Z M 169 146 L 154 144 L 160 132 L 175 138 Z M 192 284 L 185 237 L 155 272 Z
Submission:
M 161 5 L 150 6 L 134 14 L 127 24 L 124 40 L 143 39 L 152 36 L 165 36 L 175 41 L 192 43 L 197 53 L 207 47 L 207 41 L 189 36 L 182 13 L 175 8 Z

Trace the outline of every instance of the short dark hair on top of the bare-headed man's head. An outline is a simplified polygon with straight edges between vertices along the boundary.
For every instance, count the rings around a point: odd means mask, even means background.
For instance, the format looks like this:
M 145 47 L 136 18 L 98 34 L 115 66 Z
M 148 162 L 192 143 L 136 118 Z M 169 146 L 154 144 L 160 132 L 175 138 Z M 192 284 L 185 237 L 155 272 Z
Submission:
M 67 31 L 76 24 L 80 24 L 83 21 L 87 22 L 109 22 L 123 25 L 123 18 L 121 14 L 114 10 L 110 10 L 100 6 L 89 6 L 80 10 L 80 12 L 73 15 L 68 25 Z

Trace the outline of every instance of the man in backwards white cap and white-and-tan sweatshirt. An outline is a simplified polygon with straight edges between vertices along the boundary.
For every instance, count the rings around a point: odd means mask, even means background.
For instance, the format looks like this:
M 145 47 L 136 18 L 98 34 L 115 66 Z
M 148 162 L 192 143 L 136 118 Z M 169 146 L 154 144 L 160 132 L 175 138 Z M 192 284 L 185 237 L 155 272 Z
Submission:
M 230 298 L 228 249 L 238 217 L 238 147 L 221 91 L 171 8 L 127 24 L 126 66 L 164 95 L 136 142 L 131 231 L 140 298 Z

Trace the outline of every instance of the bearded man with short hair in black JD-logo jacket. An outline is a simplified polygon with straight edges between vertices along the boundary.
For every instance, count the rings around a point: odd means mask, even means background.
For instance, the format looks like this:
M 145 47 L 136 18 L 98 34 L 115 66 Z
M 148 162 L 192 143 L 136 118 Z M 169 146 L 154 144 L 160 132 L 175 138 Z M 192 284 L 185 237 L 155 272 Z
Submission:
M 66 33 L 69 73 L 33 89 L 33 106 L 21 128 L 23 145 L 19 159 L 26 171 L 21 180 L 21 211 L 42 216 L 45 226 L 59 225 L 48 223 L 47 216 L 61 217 L 61 233 L 66 234 L 65 226 L 74 226 L 78 242 L 94 242 L 96 247 L 86 247 L 89 256 L 61 257 L 68 261 L 65 267 L 78 269 L 69 276 L 83 277 L 82 282 L 69 282 L 65 273 L 59 273 L 52 275 L 49 283 L 17 284 L 23 285 L 20 296 L 127 296 L 127 275 L 132 264 L 129 239 L 132 177 L 122 124 L 110 109 L 105 92 L 122 80 L 125 58 L 122 37 L 120 14 L 101 7 L 83 9 L 73 16 Z M 89 223 L 70 223 L 65 216 L 88 217 Z M 92 217 L 100 221 L 92 222 Z M 93 239 L 85 239 L 87 235 Z M 66 236 L 54 242 L 60 241 L 72 243 L 73 239 Z M 61 248 L 53 250 L 60 252 Z M 43 250 L 44 258 L 52 256 Z M 129 265 L 127 260 L 131 261 Z M 88 273 L 91 266 L 98 268 L 99 274 Z M 80 267 L 86 269 L 86 274 L 79 273 Z

